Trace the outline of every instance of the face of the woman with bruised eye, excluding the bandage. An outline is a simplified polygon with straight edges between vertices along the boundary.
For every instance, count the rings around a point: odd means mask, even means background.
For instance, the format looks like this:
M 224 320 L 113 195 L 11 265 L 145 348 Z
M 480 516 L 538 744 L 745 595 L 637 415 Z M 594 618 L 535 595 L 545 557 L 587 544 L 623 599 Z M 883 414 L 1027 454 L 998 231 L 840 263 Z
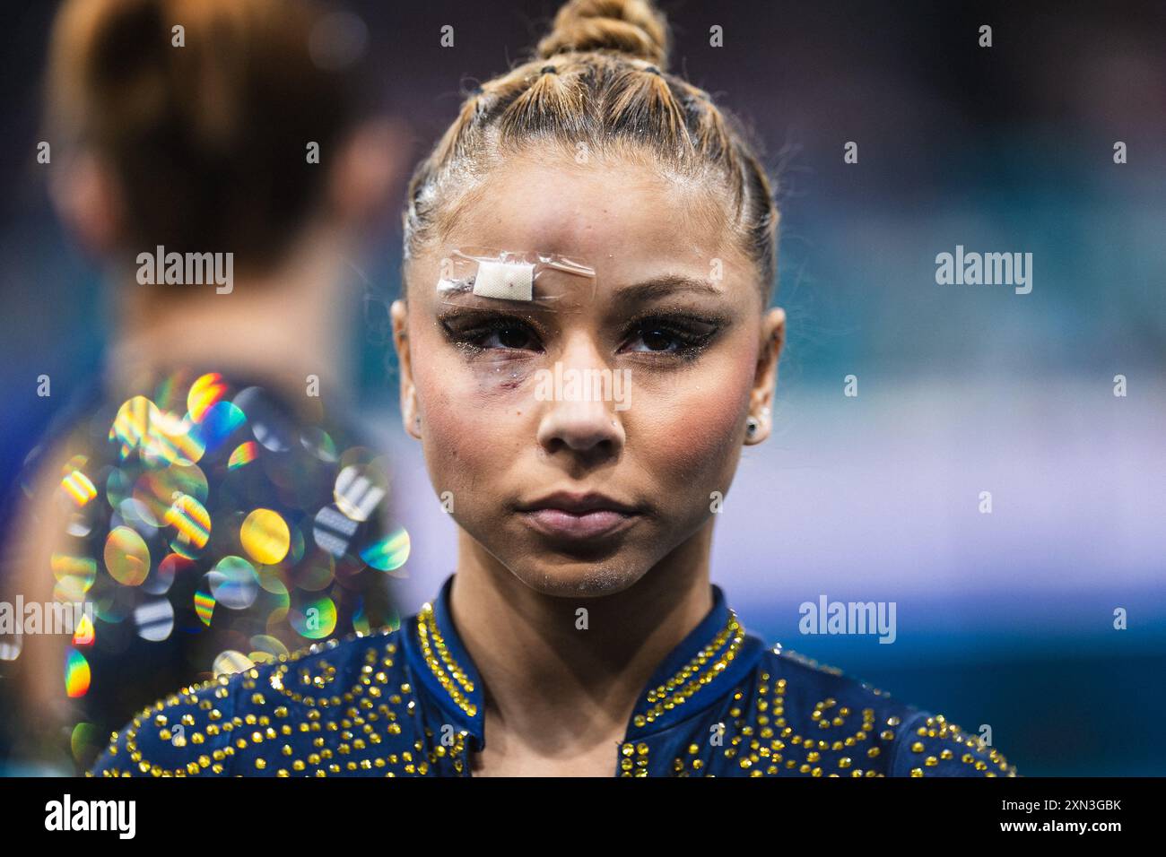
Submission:
M 711 526 L 743 443 L 768 433 L 784 316 L 724 220 L 707 189 L 642 166 L 514 157 L 410 261 L 406 427 L 457 524 L 535 590 L 635 583 Z M 445 248 L 470 246 L 596 275 L 540 271 L 553 309 L 440 297 Z

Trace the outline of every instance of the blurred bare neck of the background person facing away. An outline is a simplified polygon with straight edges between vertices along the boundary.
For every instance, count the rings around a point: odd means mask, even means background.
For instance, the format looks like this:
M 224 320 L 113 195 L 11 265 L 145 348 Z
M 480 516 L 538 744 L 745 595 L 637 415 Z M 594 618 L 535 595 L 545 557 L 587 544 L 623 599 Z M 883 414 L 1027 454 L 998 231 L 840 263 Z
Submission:
M 206 366 L 262 379 L 288 395 L 303 395 L 308 375 L 321 394 L 351 396 L 347 276 L 343 253 L 323 237 L 309 238 L 276 269 L 236 279 L 227 294 L 213 286 L 174 295 L 119 283 L 119 328 L 110 346 L 107 380 L 115 389 L 141 389 L 180 366 Z M 337 310 L 340 311 L 337 311 Z

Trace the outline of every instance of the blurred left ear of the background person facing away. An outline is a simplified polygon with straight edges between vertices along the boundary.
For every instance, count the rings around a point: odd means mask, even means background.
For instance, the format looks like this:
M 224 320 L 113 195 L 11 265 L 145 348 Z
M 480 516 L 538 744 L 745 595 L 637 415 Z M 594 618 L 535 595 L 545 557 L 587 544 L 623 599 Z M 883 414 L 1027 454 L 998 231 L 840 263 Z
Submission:
M 125 223 L 121 191 L 96 155 L 78 152 L 65 160 L 49 180 L 49 198 L 86 253 L 106 257 L 117 248 Z

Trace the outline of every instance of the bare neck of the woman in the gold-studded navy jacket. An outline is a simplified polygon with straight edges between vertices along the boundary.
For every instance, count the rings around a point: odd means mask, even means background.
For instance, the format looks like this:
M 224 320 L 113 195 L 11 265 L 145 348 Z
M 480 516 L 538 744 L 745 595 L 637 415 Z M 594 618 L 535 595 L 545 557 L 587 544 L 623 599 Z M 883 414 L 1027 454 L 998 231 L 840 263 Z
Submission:
M 609 742 L 623 739 L 648 679 L 712 607 L 711 533 L 710 521 L 621 592 L 571 598 L 535 591 L 459 531 L 450 609 L 484 684 L 486 752 L 566 760 L 590 750 L 610 772 Z

